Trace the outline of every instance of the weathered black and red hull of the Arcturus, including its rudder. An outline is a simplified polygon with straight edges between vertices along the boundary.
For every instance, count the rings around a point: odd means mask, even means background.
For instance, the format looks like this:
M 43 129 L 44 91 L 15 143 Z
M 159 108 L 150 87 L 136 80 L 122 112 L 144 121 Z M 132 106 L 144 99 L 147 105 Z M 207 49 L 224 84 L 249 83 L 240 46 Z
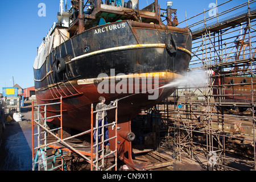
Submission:
M 166 85 L 187 71 L 191 47 L 192 34 L 188 28 L 131 20 L 91 28 L 53 50 L 48 46 L 51 52 L 45 60 L 37 56 L 37 102 L 41 105 L 62 100 L 62 126 L 87 131 L 91 128 L 91 107 L 95 110 L 98 98 L 104 96 L 106 104 L 117 100 L 118 158 L 141 169 L 132 160 L 132 140 L 126 137 L 133 135 L 131 119 L 174 92 L 174 87 Z M 51 117 L 59 114 L 61 108 L 48 105 L 46 110 L 47 117 Z M 110 110 L 108 122 L 113 121 L 115 110 Z M 60 125 L 59 118 L 47 122 Z M 114 135 L 110 126 L 109 137 Z M 114 151 L 115 142 L 109 142 Z

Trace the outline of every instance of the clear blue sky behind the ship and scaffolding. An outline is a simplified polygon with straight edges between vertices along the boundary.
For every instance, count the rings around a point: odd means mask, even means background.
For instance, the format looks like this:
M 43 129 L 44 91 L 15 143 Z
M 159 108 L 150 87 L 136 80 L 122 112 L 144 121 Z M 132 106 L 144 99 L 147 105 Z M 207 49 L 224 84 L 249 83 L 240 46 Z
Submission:
M 127 1 L 125 0 L 125 2 Z M 217 0 L 217 4 L 220 5 L 226 1 L 228 0 Z M 140 0 L 139 7 L 142 9 L 152 2 L 154 0 Z M 209 10 L 210 3 L 216 4 L 216 0 L 173 0 L 172 2 L 172 8 L 177 9 L 179 22 L 185 19 L 185 12 L 189 18 L 203 12 L 204 9 Z M 247 2 L 247 0 L 233 0 L 223 8 L 228 9 L 230 6 L 240 5 L 242 2 Z M 39 16 L 42 13 L 40 3 L 46 5 L 45 16 Z M 166 0 L 159 0 L 162 9 L 166 9 L 166 3 Z M 68 7 L 71 6 L 69 0 L 67 4 Z M 53 22 L 57 22 L 59 5 L 59 0 L 14 0 L 1 9 L 0 93 L 3 87 L 12 87 L 13 82 L 23 89 L 34 86 L 33 64 L 37 55 L 37 47 L 42 43 Z M 209 14 L 206 16 L 209 17 Z M 182 23 L 178 27 L 184 26 L 185 23 Z

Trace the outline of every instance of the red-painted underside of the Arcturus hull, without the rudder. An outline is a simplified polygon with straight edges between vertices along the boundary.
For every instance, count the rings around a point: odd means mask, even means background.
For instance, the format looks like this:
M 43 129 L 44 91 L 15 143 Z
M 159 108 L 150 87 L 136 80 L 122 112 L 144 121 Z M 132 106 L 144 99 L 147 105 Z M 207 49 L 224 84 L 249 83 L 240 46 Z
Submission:
M 158 79 L 152 78 L 152 84 L 150 89 L 148 89 L 148 78 L 143 81 L 140 79 L 138 82 L 133 84 L 133 93 L 99 93 L 102 90 L 99 84 L 73 84 L 60 86 L 60 88 L 52 88 L 44 90 L 37 94 L 38 104 L 51 104 L 54 100 L 44 100 L 43 98 L 51 98 L 53 93 L 68 93 L 73 92 L 73 95 L 63 97 L 63 127 L 75 129 L 79 131 L 86 131 L 90 129 L 91 121 L 91 107 L 93 105 L 94 110 L 95 106 L 98 103 L 98 97 L 104 96 L 106 98 L 106 104 L 109 104 L 110 101 L 118 100 L 118 123 L 128 122 L 133 117 L 138 115 L 141 110 L 150 109 L 152 106 L 155 106 L 160 101 L 163 101 L 164 98 L 170 96 L 170 93 L 174 92 L 175 88 L 164 87 L 168 82 L 171 82 L 174 78 L 180 77 L 176 73 L 162 72 L 154 73 L 157 75 Z M 98 79 L 95 79 L 98 80 Z M 135 80 L 135 79 L 134 79 Z M 151 78 L 150 78 L 151 80 Z M 120 81 L 115 81 L 115 88 L 118 89 L 118 84 Z M 112 85 L 109 81 L 109 90 L 111 90 Z M 130 83 L 122 83 L 123 90 L 127 89 L 129 91 Z M 125 88 L 125 89 L 124 89 Z M 138 88 L 138 90 L 136 89 Z M 75 91 L 76 90 L 76 91 Z M 115 90 L 118 91 L 118 90 Z M 152 100 L 148 98 L 154 98 Z M 55 99 L 57 102 L 58 99 Z M 44 107 L 40 107 L 41 110 L 44 110 Z M 47 116 L 51 117 L 60 113 L 60 105 L 49 105 L 47 106 Z M 95 115 L 93 116 L 95 118 Z M 115 110 L 110 110 L 108 113 L 109 122 L 115 121 Z M 56 125 L 60 125 L 59 119 L 48 119 L 47 122 L 52 122 Z M 95 124 L 95 119 L 94 123 Z

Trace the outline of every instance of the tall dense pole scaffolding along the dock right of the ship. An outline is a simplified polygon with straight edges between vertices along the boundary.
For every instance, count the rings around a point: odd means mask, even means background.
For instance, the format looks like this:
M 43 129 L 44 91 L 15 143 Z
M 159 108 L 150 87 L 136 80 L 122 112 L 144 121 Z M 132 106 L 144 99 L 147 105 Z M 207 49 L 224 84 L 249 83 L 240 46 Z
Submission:
M 168 98 L 174 155 L 205 170 L 255 170 L 256 1 L 233 1 L 187 18 L 193 32 L 192 60 L 184 82 Z M 228 10 L 218 12 L 220 9 Z M 203 18 L 196 21 L 200 16 Z M 188 77 L 187 77 L 188 78 Z

